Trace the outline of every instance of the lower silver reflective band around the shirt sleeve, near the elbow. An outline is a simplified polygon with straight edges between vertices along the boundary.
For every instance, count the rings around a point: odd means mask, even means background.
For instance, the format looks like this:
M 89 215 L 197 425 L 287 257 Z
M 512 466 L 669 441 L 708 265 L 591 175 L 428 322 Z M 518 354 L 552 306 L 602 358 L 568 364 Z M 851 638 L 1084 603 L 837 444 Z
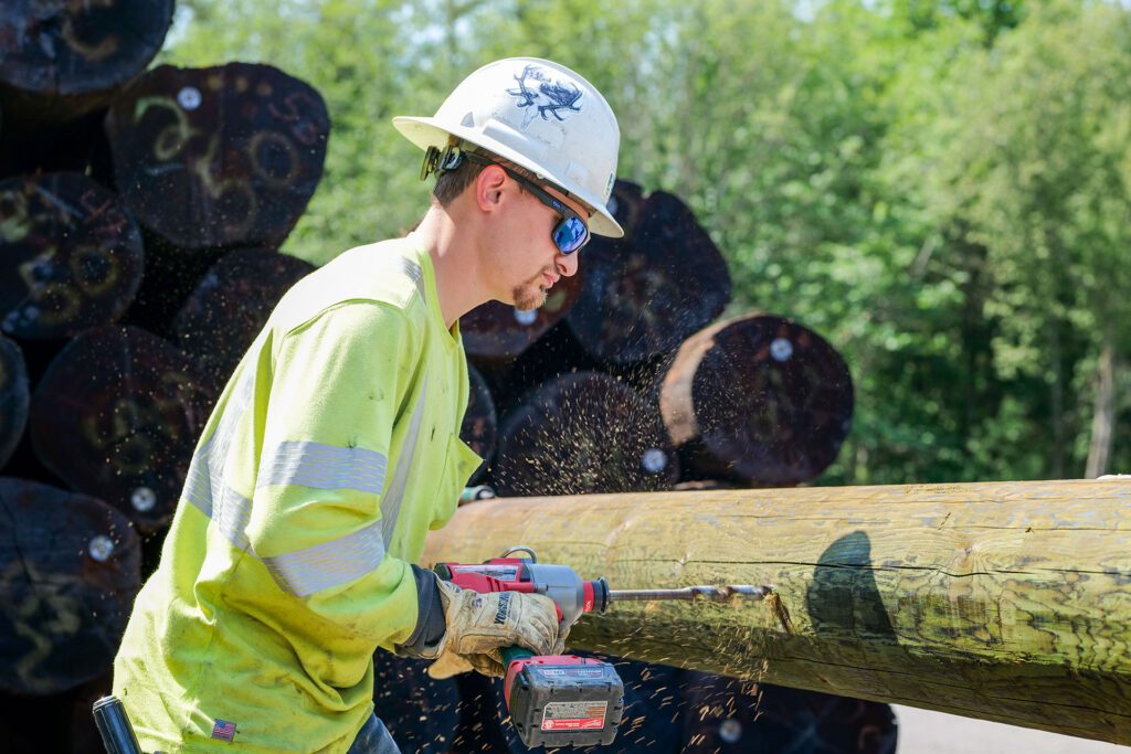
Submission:
M 296 597 L 313 595 L 375 571 L 385 556 L 381 522 L 319 545 L 262 558 L 275 581 Z

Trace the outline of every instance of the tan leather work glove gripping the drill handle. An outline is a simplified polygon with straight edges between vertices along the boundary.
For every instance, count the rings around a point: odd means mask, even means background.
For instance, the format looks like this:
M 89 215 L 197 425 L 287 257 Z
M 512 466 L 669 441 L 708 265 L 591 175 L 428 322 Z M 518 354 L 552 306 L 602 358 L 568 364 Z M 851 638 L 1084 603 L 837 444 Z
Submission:
M 501 677 L 502 649 L 525 647 L 535 655 L 560 655 L 568 626 L 558 623 L 558 610 L 549 597 L 517 591 L 480 593 L 439 581 L 440 601 L 448 631 L 428 673 L 449 678 L 477 670 Z

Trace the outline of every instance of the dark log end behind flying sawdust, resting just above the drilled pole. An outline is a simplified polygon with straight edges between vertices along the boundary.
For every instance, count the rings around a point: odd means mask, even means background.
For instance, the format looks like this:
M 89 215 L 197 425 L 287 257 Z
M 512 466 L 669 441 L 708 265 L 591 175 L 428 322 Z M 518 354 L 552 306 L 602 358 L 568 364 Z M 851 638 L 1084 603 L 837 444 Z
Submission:
M 679 478 L 657 411 L 597 372 L 544 384 L 499 437 L 492 478 L 501 495 L 667 489 Z

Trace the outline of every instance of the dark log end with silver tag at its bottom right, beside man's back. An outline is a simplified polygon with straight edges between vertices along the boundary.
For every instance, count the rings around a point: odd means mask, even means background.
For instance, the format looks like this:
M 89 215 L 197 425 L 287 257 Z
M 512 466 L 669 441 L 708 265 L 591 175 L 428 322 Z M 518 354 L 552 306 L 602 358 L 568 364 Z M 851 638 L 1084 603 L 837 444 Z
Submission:
M 32 396 L 32 445 L 74 488 L 153 532 L 176 508 L 207 401 L 191 359 L 172 344 L 132 327 L 88 330 Z

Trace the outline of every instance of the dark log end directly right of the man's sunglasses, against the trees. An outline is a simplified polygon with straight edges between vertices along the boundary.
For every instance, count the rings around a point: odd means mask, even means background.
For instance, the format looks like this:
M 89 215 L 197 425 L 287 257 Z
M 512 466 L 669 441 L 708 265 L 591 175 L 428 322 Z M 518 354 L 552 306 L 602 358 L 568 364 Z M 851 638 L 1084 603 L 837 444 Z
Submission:
M 619 208 L 632 208 L 631 191 L 621 196 Z M 731 300 L 726 262 L 687 205 L 654 191 L 638 211 L 633 233 L 595 236 L 580 252 L 585 286 L 566 318 L 586 349 L 614 365 L 675 350 Z

